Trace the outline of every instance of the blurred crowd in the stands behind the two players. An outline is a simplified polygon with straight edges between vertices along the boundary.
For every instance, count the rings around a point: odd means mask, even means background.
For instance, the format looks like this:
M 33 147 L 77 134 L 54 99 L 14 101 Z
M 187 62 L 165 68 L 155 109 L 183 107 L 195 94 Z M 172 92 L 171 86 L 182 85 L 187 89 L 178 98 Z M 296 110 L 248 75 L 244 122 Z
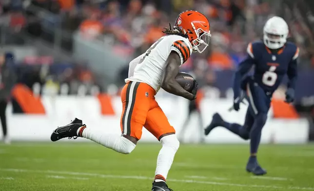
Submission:
M 262 38 L 262 27 L 272 15 L 285 18 L 290 40 L 301 49 L 300 70 L 314 68 L 314 40 L 311 19 L 302 15 L 306 1 L 289 0 L 2 0 L 1 44 L 26 44 L 23 35 L 57 44 L 61 52 L 73 50 L 72 35 L 110 44 L 118 57 L 137 57 L 158 38 L 182 10 L 196 9 L 210 18 L 211 47 L 193 55 L 182 70 L 193 72 L 202 85 L 216 83 L 216 71 L 233 70 L 246 55 L 248 42 Z M 296 6 L 297 4 L 297 6 Z M 298 9 L 295 10 L 295 7 Z M 305 12 L 305 11 L 304 11 Z M 313 23 L 312 23 L 313 24 Z M 5 29 L 4 29 L 5 28 Z M 58 30 L 56 30 L 58 29 Z M 60 31 L 61 32 L 60 32 Z M 58 34 L 59 38 L 58 38 Z M 28 36 L 27 36 L 28 37 Z M 58 43 L 57 43 L 58 41 Z M 89 69 L 84 60 L 65 61 L 58 55 L 24 57 L 17 67 L 19 81 L 29 87 L 35 82 L 59 88 L 70 85 L 76 94 L 79 83 L 96 84 L 103 74 Z M 128 61 L 115 81 L 119 86 L 127 76 Z M 30 77 L 31 76 L 31 77 Z M 60 92 L 60 91 L 59 91 Z

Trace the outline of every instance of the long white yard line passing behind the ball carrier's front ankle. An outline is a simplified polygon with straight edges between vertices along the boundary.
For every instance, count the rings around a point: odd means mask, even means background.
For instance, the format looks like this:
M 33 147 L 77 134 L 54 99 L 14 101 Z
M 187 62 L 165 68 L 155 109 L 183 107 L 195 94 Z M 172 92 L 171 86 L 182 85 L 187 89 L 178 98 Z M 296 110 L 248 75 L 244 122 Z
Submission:
M 147 176 L 127 176 L 127 175 L 86 173 L 86 172 L 39 171 L 39 170 L 26 170 L 26 169 L 0 169 L 0 171 L 46 173 L 46 174 L 67 174 L 67 175 L 95 176 L 95 177 L 100 177 L 100 178 L 115 178 L 115 179 L 145 179 L 145 180 L 151 180 L 152 179 L 152 177 L 147 177 Z M 196 181 L 196 180 L 184 180 L 184 179 L 167 179 L 167 181 L 195 183 L 195 184 L 208 184 L 208 185 L 220 185 L 220 186 L 230 186 L 230 187 L 249 187 L 249 188 L 269 188 L 269 189 L 283 189 L 283 190 L 289 189 L 289 190 L 314 191 L 314 188 L 303 188 L 303 187 L 282 187 L 282 186 L 267 186 L 267 185 L 233 184 L 233 183 L 212 182 L 212 181 Z

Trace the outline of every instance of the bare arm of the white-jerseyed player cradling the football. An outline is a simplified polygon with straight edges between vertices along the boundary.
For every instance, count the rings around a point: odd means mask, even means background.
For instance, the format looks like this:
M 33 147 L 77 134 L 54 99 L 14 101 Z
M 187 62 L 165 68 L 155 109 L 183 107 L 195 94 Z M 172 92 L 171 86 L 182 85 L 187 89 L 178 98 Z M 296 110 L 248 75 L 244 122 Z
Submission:
M 162 89 L 164 89 L 166 92 L 169 92 L 170 94 L 182 96 L 191 100 L 194 98 L 193 94 L 182 88 L 175 79 L 179 72 L 180 65 L 181 58 L 177 52 L 170 52 L 169 57 L 165 63 L 165 68 L 163 69 L 160 85 Z

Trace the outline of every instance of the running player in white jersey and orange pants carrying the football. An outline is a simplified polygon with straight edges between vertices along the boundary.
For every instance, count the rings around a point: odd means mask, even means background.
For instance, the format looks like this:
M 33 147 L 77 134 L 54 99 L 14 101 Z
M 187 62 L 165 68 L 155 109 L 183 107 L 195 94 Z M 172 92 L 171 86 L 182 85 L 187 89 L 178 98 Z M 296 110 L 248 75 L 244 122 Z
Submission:
M 129 77 L 121 92 L 123 111 L 121 135 L 98 132 L 75 118 L 70 124 L 57 128 L 52 141 L 64 137 L 84 137 L 118 153 L 129 154 L 141 138 L 145 127 L 161 143 L 152 191 L 171 191 L 166 184 L 174 156 L 179 148 L 175 129 L 169 124 L 155 100 L 160 88 L 185 97 L 196 98 L 198 84 L 194 81 L 192 93 L 182 88 L 175 77 L 179 67 L 193 51 L 202 53 L 211 37 L 208 19 L 197 11 L 185 11 L 178 15 L 174 28 L 164 31 L 166 36 L 155 42 L 144 54 L 130 62 Z

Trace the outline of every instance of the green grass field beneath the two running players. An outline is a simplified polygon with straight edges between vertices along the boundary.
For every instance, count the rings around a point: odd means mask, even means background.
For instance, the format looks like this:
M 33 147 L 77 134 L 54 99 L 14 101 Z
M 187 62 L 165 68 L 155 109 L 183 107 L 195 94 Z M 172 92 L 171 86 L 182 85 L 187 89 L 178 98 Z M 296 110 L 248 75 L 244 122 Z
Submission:
M 0 191 L 150 191 L 158 144 L 130 155 L 93 143 L 0 145 Z M 314 190 L 314 145 L 262 145 L 265 176 L 245 171 L 247 145 L 181 144 L 168 186 L 174 191 Z

